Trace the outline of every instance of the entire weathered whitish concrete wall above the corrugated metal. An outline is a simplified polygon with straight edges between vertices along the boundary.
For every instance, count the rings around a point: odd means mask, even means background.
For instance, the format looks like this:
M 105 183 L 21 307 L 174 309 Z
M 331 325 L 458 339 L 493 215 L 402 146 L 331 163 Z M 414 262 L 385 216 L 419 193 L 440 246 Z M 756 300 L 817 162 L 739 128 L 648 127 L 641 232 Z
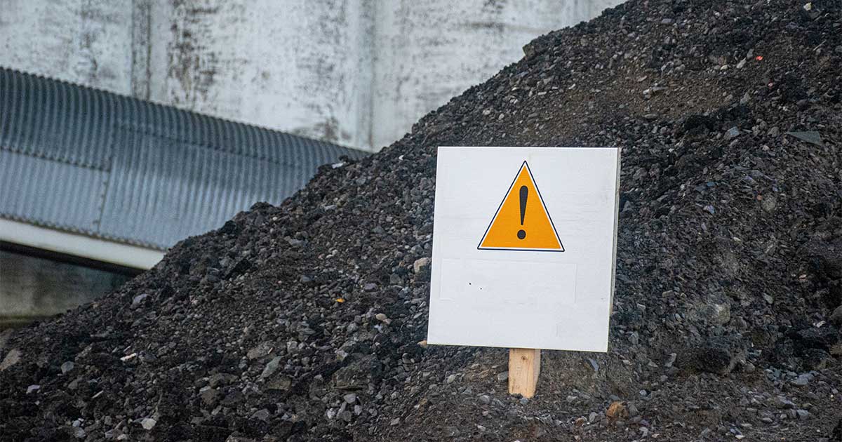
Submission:
M 618 0 L 3 0 L 0 65 L 379 150 Z

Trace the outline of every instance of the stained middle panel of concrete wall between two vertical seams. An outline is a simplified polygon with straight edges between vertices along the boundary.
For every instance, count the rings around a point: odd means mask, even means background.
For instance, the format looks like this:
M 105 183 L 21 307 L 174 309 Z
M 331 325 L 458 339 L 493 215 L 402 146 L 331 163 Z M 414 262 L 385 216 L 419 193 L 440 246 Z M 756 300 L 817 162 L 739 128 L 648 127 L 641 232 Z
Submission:
M 157 2 L 144 79 L 151 99 L 363 146 L 372 4 Z

